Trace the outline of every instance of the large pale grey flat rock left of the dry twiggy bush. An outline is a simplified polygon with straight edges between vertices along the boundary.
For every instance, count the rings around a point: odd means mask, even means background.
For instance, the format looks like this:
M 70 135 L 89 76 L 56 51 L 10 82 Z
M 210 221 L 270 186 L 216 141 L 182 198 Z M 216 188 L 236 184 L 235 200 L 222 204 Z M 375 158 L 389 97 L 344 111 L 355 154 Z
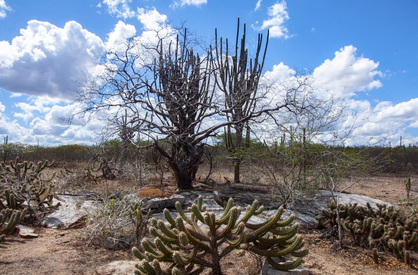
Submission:
M 94 209 L 94 202 L 73 196 L 60 195 L 60 207 L 41 220 L 42 225 L 52 229 L 67 229 L 83 222 Z

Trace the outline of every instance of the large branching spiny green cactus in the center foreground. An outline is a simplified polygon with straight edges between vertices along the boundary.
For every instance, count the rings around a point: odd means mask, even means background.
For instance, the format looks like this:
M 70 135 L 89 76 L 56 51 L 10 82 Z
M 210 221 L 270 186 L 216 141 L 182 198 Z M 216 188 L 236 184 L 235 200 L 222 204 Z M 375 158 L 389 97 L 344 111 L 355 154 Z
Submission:
M 199 196 L 197 204 L 188 208 L 189 214 L 185 214 L 177 202 L 177 219 L 164 209 L 167 225 L 162 220 L 151 219 L 149 232 L 155 239 L 142 241 L 144 253 L 133 248 L 134 255 L 141 260 L 136 265 L 136 274 L 192 275 L 207 267 L 213 275 L 222 275 L 220 259 L 233 250 L 241 255 L 249 251 L 267 257 L 275 268 L 290 270 L 297 267 L 308 253 L 307 249 L 300 250 L 304 241 L 297 234 L 299 224 L 290 225 L 295 216 L 280 220 L 283 208 L 265 222 L 256 224 L 251 223 L 251 217 L 264 210 L 263 206 L 258 206 L 257 200 L 241 213 L 230 198 L 221 215 L 206 212 L 202 201 L 202 196 Z M 283 263 L 289 256 L 296 260 Z M 163 268 L 160 263 L 168 265 Z

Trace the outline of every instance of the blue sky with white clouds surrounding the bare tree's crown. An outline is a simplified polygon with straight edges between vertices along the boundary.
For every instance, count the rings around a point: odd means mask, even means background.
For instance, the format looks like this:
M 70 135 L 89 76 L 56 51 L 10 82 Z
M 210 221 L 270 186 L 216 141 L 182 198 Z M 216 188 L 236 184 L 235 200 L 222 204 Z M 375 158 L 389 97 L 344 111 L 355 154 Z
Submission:
M 77 108 L 73 81 L 110 40 L 181 22 L 208 41 L 215 27 L 234 39 L 239 17 L 249 49 L 270 29 L 266 71 L 306 70 L 363 111 L 354 142 L 417 142 L 417 14 L 415 0 L 0 0 L 0 137 L 90 142 L 97 128 L 67 129 L 59 117 Z

